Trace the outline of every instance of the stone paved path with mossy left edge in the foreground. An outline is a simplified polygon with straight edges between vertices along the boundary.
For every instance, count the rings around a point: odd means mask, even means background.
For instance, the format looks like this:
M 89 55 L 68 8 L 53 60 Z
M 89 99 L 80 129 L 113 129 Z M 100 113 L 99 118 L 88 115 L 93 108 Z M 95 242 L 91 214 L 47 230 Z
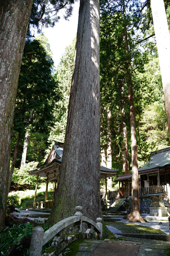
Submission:
M 170 253 L 170 246 L 167 244 L 82 239 L 70 244 L 59 256 L 166 256 L 167 249 Z

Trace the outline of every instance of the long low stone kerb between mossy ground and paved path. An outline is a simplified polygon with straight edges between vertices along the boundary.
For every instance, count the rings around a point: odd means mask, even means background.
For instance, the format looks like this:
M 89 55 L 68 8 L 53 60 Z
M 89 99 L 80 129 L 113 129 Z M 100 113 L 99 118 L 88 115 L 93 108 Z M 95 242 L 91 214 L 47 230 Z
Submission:
M 170 236 L 167 234 L 132 234 L 132 233 L 116 233 L 126 237 L 146 238 L 154 240 L 170 241 Z

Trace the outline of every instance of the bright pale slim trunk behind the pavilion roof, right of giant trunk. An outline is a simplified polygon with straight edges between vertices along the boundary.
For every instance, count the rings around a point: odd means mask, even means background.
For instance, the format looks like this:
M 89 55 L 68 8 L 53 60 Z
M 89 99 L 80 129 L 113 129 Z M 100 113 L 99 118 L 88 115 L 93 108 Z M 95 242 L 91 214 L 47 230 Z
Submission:
M 108 108 L 107 123 L 108 123 L 108 148 L 107 148 L 107 168 L 112 169 L 112 149 L 111 149 L 111 132 L 110 132 L 111 111 Z M 107 187 L 112 188 L 112 177 L 107 178 Z

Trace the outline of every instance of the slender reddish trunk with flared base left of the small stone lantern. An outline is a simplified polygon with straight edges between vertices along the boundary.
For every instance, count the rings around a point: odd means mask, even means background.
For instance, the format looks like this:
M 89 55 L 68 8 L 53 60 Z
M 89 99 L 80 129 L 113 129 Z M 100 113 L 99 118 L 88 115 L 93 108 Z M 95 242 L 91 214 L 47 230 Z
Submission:
M 123 13 L 126 21 L 125 13 L 125 1 L 123 0 Z M 132 222 L 145 222 L 140 216 L 140 203 L 139 203 L 139 178 L 137 167 L 137 141 L 136 141 L 136 120 L 134 113 L 134 101 L 133 101 L 133 88 L 132 78 L 130 74 L 130 59 L 129 59 L 129 44 L 125 22 L 125 48 L 127 54 L 126 74 L 128 79 L 128 98 L 130 107 L 130 133 L 131 133 L 131 151 L 132 151 L 132 209 L 130 214 L 126 216 L 126 219 Z

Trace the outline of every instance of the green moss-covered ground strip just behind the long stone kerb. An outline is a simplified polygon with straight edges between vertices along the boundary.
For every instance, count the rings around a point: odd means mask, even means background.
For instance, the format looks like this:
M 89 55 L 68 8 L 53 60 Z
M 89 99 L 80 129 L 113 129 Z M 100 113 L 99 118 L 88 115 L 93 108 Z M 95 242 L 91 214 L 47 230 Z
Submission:
M 146 227 L 142 225 L 136 225 L 132 223 L 122 223 L 122 222 L 111 222 L 106 221 L 106 225 L 116 227 L 122 231 L 122 233 L 132 233 L 132 234 L 165 234 L 163 231 L 158 229 L 153 229 L 152 227 Z

